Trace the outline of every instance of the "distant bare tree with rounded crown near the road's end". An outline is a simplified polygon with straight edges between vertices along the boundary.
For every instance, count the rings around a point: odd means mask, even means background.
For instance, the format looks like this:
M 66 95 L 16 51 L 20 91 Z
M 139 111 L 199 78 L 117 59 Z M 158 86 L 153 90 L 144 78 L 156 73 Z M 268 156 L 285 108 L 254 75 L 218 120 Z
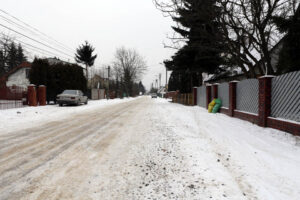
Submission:
M 133 84 L 141 80 L 147 65 L 136 50 L 121 47 L 116 50 L 113 68 L 126 93 L 132 95 Z

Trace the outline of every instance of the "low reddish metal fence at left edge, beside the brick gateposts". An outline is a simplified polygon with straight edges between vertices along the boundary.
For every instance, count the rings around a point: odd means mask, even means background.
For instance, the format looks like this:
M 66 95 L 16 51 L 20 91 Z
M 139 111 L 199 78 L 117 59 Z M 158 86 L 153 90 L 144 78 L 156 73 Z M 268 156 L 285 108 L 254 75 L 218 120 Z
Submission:
M 27 105 L 27 89 L 22 87 L 0 88 L 0 110 L 20 108 Z

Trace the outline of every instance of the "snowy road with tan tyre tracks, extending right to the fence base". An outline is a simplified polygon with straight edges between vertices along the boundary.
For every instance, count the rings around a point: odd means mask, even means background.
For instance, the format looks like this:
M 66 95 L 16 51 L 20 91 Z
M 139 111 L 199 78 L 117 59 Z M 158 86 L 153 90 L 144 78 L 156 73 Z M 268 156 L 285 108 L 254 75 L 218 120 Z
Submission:
M 148 97 L 62 109 L 80 110 L 2 124 L 0 199 L 300 197 L 289 134 Z

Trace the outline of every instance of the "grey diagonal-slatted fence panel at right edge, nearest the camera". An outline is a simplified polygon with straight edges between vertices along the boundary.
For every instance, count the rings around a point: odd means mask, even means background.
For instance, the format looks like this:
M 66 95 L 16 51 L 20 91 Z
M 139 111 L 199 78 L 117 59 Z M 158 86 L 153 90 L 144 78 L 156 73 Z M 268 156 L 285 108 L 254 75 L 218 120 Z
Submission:
M 272 79 L 271 117 L 300 122 L 300 71 Z

